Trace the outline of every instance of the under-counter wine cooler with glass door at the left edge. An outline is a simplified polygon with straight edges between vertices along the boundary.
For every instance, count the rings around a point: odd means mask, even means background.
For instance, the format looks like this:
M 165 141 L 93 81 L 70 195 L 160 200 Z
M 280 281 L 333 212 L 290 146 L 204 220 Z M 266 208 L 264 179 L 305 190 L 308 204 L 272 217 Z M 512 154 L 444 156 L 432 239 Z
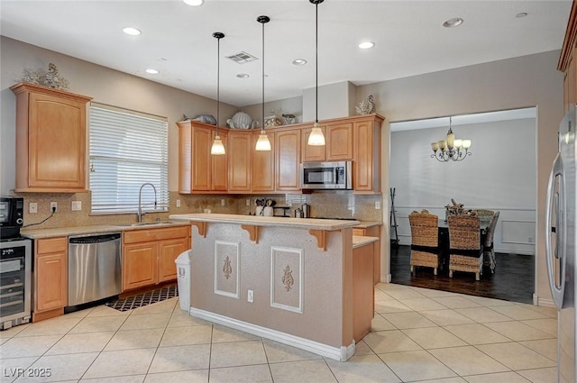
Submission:
M 32 240 L 0 239 L 0 330 L 31 318 Z

